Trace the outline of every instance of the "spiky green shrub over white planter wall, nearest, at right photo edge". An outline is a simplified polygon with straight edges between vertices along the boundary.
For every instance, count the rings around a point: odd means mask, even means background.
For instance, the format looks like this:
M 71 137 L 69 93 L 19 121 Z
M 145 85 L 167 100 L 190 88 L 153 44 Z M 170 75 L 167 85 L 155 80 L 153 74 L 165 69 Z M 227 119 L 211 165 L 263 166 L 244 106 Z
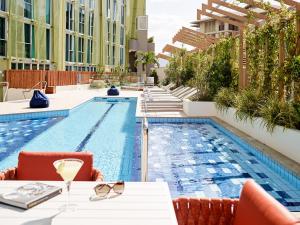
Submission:
M 298 107 L 291 102 L 283 102 L 278 98 L 270 97 L 261 108 L 264 126 L 269 132 L 273 132 L 276 125 L 297 128 L 300 123 Z

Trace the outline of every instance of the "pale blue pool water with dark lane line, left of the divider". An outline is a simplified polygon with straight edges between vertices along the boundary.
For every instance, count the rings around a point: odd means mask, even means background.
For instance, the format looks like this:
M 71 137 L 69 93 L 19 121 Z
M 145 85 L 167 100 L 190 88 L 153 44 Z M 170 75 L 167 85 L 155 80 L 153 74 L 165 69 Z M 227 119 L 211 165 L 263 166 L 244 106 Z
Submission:
M 5 152 L 0 153 L 0 170 L 15 166 L 21 150 L 90 151 L 94 167 L 102 171 L 106 181 L 135 180 L 131 175 L 135 111 L 136 99 L 98 99 L 65 118 L 0 123 L 1 134 L 6 135 L 5 141 L 0 142 L 0 149 Z M 23 132 L 24 128 L 27 131 Z

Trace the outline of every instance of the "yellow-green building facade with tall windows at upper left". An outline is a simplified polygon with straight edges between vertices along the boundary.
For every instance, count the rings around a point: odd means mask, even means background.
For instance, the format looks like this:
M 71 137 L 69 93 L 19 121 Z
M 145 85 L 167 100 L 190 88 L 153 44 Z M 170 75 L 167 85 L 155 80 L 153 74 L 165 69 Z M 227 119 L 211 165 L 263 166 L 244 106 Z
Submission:
M 0 70 L 127 67 L 145 0 L 0 0 Z

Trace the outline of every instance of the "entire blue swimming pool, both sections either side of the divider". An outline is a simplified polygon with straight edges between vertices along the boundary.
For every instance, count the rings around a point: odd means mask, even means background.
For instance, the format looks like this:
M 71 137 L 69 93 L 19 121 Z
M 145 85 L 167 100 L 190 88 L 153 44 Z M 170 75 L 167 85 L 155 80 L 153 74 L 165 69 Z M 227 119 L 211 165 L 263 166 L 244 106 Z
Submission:
M 91 151 L 106 181 L 140 180 L 136 98 L 94 98 L 75 109 L 0 116 L 0 170 L 27 151 Z M 237 198 L 253 178 L 291 211 L 300 180 L 210 119 L 149 118 L 149 180 L 172 197 Z

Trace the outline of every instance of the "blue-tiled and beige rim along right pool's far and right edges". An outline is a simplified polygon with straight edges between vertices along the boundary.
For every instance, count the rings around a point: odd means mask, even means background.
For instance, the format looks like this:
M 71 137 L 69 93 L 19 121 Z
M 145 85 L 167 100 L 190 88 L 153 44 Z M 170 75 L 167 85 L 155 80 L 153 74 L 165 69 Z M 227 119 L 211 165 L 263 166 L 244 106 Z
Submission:
M 137 121 L 141 121 L 141 117 L 137 118 Z M 226 122 L 218 119 L 217 117 L 182 117 L 182 118 L 176 118 L 176 117 L 148 117 L 149 123 L 151 122 L 179 122 L 180 120 L 186 120 L 187 122 L 196 122 L 197 120 L 203 120 L 207 119 L 208 121 L 212 121 L 215 123 L 218 128 L 221 128 L 221 131 L 225 133 L 227 136 L 236 136 L 240 141 L 237 140 L 237 143 L 240 145 L 243 145 L 243 147 L 252 148 L 256 151 L 258 151 L 258 154 L 256 155 L 260 160 L 261 158 L 265 161 L 267 160 L 268 163 L 271 165 L 272 170 L 280 175 L 281 177 L 285 178 L 286 180 L 293 182 L 296 187 L 300 188 L 300 164 L 297 162 L 287 158 L 286 156 L 282 155 L 281 153 L 277 152 L 275 149 L 272 149 L 271 147 L 261 143 L 260 141 L 254 139 L 253 137 L 243 133 L 242 131 L 238 130 L 235 127 L 232 127 L 231 125 L 227 124 Z M 152 120 L 152 121 L 151 121 Z M 225 129 L 225 131 L 223 130 Z M 232 135 L 231 135 L 231 134 Z M 231 137 L 232 138 L 232 137 Z M 240 142 L 245 142 L 244 144 Z M 267 158 L 265 158 L 267 157 Z M 269 159 L 268 159 L 269 158 Z M 286 170 L 286 171 L 284 171 Z

